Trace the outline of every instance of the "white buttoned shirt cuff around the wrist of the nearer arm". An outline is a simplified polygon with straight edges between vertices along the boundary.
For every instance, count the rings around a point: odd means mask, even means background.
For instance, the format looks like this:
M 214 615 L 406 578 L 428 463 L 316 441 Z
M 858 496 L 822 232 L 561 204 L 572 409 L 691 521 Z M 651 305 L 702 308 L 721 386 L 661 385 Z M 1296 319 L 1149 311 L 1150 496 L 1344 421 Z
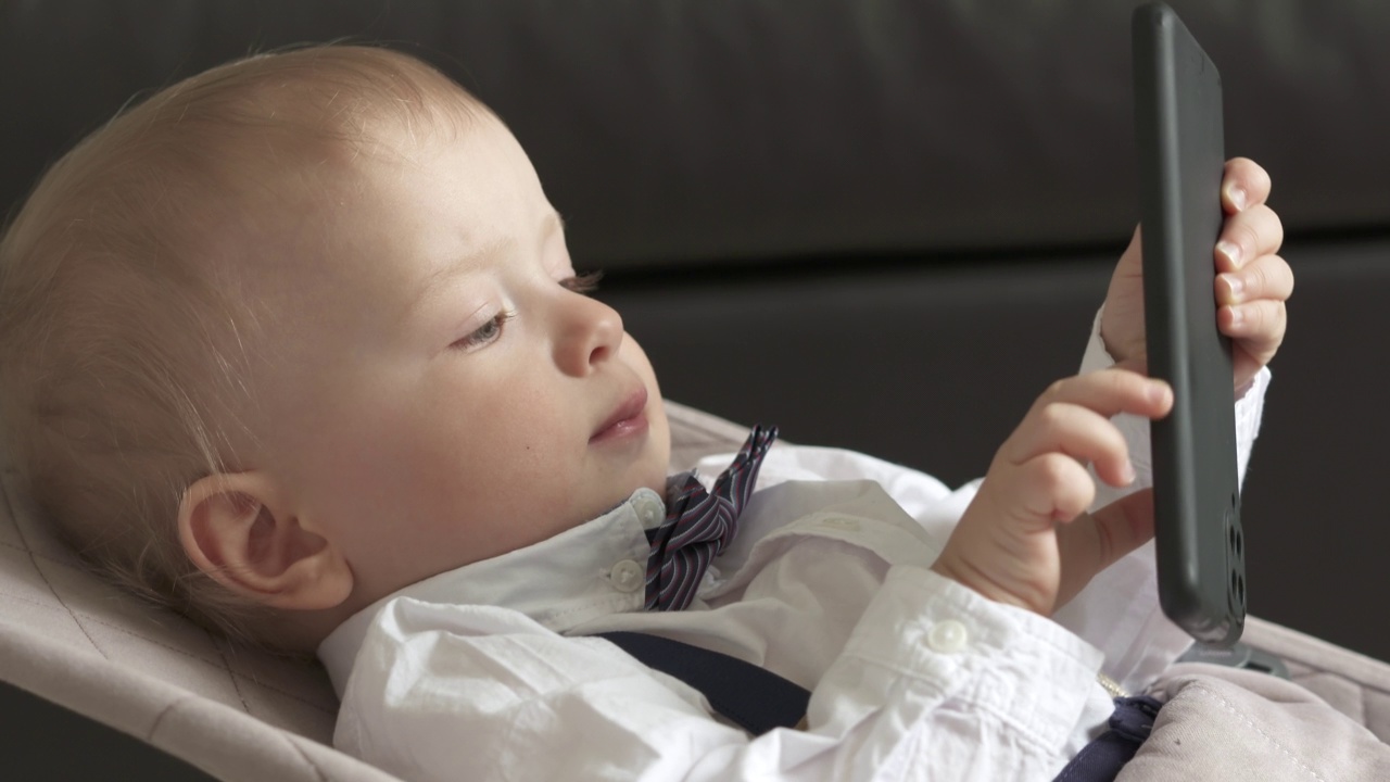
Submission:
M 1044 616 L 905 565 L 888 572 L 845 655 L 1052 751 L 1076 729 L 1102 662 L 1099 650 Z

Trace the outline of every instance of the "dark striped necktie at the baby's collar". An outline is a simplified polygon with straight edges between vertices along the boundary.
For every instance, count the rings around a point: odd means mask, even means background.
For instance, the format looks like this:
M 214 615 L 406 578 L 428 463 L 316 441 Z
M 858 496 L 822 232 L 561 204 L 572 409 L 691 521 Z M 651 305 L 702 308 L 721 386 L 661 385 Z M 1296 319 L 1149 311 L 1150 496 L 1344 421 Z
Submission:
M 734 463 L 705 491 L 687 473 L 670 493 L 666 519 L 646 530 L 652 554 L 646 561 L 646 609 L 682 611 L 695 600 L 705 569 L 738 533 L 738 513 L 753 493 L 763 456 L 777 440 L 777 427 L 755 426 Z

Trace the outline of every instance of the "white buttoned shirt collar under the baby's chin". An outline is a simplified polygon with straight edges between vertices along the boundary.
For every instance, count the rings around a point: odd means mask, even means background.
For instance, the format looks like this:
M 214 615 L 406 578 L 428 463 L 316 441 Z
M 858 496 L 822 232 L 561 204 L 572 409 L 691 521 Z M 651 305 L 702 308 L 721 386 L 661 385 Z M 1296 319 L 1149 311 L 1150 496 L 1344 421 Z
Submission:
M 342 697 L 373 619 L 386 603 L 403 597 L 512 608 L 555 632 L 606 614 L 641 609 L 651 554 L 644 530 L 660 525 L 664 516 L 662 497 L 638 488 L 602 516 L 557 536 L 446 570 L 378 600 L 329 633 L 318 646 L 318 660 Z

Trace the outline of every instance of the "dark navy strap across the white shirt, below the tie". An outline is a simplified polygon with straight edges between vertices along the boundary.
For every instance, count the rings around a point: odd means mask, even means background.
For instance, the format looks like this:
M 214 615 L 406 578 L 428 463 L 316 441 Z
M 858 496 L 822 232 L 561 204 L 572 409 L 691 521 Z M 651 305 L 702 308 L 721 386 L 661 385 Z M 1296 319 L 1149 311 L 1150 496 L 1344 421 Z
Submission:
M 600 633 L 638 662 L 676 676 L 705 694 L 710 707 L 755 736 L 796 728 L 810 692 L 777 673 L 708 648 L 646 633 Z

